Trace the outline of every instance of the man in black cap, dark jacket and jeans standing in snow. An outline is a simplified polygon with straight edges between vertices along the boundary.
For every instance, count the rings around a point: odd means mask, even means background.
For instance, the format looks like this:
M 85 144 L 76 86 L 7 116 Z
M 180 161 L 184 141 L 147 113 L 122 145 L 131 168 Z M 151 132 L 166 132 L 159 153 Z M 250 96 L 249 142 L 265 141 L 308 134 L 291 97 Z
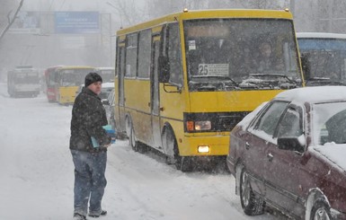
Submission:
M 102 128 L 107 125 L 107 117 L 98 97 L 101 88 L 100 75 L 86 75 L 84 89 L 75 98 L 72 109 L 69 148 L 75 164 L 74 219 L 77 220 L 86 219 L 88 203 L 89 216 L 107 214 L 107 211 L 102 210 L 101 202 L 107 184 L 104 172 L 111 137 Z M 98 145 L 93 145 L 92 137 Z

